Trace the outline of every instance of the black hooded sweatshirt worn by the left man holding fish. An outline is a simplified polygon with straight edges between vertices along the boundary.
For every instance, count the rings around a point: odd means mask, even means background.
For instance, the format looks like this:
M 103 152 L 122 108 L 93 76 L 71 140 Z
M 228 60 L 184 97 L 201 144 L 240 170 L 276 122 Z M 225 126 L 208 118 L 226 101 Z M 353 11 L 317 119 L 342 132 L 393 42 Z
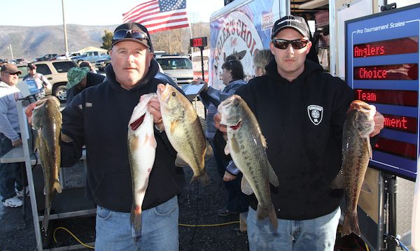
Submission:
M 62 166 L 77 162 L 86 145 L 87 196 L 99 206 L 119 212 L 130 212 L 132 208 L 127 124 L 140 96 L 156 92 L 162 83 L 155 78 L 156 73 L 158 64 L 153 60 L 146 77 L 127 90 L 116 82 L 112 66 L 107 66 L 106 80 L 84 89 L 62 112 L 62 133 L 73 138 L 73 143 L 62 143 Z M 176 151 L 165 132 L 155 130 L 155 138 L 158 147 L 144 210 L 171 199 L 185 185 L 183 169 L 174 166 Z

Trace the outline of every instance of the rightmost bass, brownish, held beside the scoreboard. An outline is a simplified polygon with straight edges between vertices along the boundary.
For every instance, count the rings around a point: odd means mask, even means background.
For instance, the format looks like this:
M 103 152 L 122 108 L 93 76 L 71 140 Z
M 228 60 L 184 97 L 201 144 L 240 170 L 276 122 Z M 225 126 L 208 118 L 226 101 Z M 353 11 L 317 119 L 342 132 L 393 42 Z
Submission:
M 373 117 L 376 108 L 355 100 L 347 111 L 344 122 L 342 145 L 342 178 L 346 194 L 346 214 L 342 227 L 342 236 L 354 233 L 360 236 L 358 226 L 357 203 L 369 159 L 372 158 L 372 147 L 369 135 L 374 130 Z

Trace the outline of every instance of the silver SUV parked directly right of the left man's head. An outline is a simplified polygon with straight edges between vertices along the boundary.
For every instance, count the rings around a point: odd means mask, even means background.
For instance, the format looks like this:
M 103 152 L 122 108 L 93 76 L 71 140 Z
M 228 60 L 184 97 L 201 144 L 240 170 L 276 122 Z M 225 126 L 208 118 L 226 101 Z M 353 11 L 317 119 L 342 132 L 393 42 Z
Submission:
M 176 78 L 176 84 L 180 87 L 193 82 L 193 62 L 188 57 L 161 56 L 156 61 L 162 66 L 165 74 Z

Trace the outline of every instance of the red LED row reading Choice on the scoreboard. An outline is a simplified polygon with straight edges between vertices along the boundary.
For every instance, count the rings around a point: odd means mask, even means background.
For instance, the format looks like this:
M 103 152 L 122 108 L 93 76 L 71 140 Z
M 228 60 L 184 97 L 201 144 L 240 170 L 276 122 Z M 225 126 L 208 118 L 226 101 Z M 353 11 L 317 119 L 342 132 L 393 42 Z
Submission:
M 378 66 L 356 66 L 354 80 L 417 80 L 418 64 L 389 64 Z

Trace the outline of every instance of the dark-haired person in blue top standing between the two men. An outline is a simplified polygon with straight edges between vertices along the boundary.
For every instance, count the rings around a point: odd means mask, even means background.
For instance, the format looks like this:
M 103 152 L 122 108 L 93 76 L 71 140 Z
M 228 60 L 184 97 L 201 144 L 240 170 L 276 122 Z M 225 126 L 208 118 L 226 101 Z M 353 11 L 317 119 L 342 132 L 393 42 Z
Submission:
M 200 93 L 200 98 L 208 110 L 207 131 L 209 131 L 209 128 L 214 128 L 213 117 L 217 113 L 219 103 L 234 94 L 239 87 L 246 84 L 244 81 L 244 69 L 241 62 L 235 56 L 231 55 L 226 57 L 222 69 L 222 80 L 226 86 L 223 91 L 218 91 L 206 85 Z M 211 144 L 214 150 L 218 173 L 223 177 L 225 187 L 228 190 L 226 205 L 219 209 L 217 213 L 223 217 L 245 212 L 248 210 L 248 199 L 241 192 L 242 174 L 236 168 L 235 163 L 233 163 L 232 157 L 225 155 L 226 141 L 221 131 L 216 130 Z

